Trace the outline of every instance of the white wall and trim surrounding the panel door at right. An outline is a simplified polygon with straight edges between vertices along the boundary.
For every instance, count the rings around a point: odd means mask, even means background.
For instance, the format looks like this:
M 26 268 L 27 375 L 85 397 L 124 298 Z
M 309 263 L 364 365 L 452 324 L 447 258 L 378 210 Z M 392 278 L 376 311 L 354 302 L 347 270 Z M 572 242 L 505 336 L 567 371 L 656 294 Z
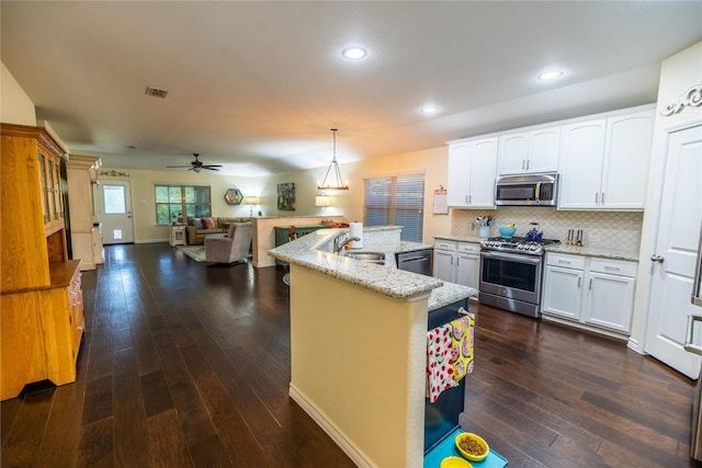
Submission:
M 658 104 L 656 107 L 656 123 L 654 127 L 654 142 L 649 168 L 649 182 L 646 198 L 646 212 L 642 227 L 642 242 L 639 251 L 639 269 L 636 286 L 636 301 L 634 305 L 634 321 L 632 341 L 638 342 L 646 335 L 647 306 L 650 287 L 650 262 L 647 259 L 654 254 L 655 237 L 658 225 L 658 213 L 654 208 L 660 196 L 660 184 L 664 178 L 664 153 L 666 148 L 666 130 L 686 122 L 702 118 L 702 106 L 687 106 L 681 112 L 670 116 L 663 116 L 669 104 L 677 103 L 680 95 L 693 84 L 702 82 L 702 42 L 667 58 L 660 68 L 660 83 L 658 88 Z

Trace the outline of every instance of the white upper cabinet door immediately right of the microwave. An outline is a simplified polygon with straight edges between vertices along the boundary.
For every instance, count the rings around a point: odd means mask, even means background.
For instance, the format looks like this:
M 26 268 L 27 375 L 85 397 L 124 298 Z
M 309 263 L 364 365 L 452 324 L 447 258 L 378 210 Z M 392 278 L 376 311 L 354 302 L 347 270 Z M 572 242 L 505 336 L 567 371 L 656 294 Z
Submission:
M 599 206 L 604 132 L 603 118 L 563 128 L 559 209 Z

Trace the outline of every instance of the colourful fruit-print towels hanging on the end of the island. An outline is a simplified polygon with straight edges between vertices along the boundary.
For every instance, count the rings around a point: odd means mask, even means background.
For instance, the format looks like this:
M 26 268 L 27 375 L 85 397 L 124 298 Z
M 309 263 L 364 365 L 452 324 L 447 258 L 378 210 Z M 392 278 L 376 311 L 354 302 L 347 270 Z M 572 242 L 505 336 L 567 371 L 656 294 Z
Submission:
M 427 332 L 427 398 L 432 403 L 473 370 L 474 324 L 468 313 Z

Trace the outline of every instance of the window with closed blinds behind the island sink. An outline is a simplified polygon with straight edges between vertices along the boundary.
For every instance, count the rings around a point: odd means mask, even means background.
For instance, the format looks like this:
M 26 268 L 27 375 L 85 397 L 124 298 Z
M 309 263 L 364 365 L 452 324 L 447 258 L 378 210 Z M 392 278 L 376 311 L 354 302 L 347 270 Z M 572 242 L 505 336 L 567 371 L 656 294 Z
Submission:
M 403 226 L 400 239 L 421 242 L 424 219 L 424 174 L 365 179 L 366 226 Z

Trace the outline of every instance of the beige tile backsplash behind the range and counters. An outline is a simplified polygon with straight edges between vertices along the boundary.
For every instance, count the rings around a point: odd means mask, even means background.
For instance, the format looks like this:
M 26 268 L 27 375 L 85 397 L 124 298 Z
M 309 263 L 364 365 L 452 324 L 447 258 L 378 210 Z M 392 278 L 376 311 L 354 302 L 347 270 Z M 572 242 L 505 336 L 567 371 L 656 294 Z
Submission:
M 582 243 L 591 247 L 637 251 L 641 243 L 643 212 L 559 212 L 555 207 L 505 206 L 497 209 L 451 209 L 451 233 L 479 236 L 475 222 L 478 216 L 489 216 L 495 222 L 490 237 L 499 236 L 497 228 L 513 224 L 514 236 L 525 236 L 539 222 L 545 239 L 559 239 L 565 243 L 568 229 L 582 229 Z

